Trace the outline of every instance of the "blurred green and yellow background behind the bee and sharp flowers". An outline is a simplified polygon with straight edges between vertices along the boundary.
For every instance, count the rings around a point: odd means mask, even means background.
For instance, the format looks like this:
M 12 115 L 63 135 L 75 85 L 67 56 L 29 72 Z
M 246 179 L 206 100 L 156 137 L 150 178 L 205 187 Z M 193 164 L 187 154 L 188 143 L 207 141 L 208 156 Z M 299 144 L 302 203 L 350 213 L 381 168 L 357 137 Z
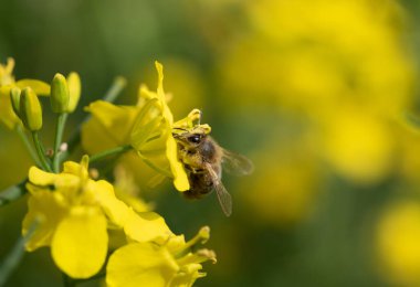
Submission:
M 251 177 L 223 177 L 230 219 L 214 194 L 141 190 L 176 233 L 211 226 L 219 262 L 197 286 L 420 286 L 420 134 L 407 120 L 420 107 L 420 1 L 1 0 L 0 14 L 17 78 L 81 74 L 67 135 L 116 75 L 119 104 L 155 87 L 159 60 L 176 118 L 202 109 L 214 138 L 254 161 Z M 31 166 L 4 127 L 0 163 L 0 189 Z M 0 258 L 25 210 L 0 209 Z M 9 285 L 60 286 L 49 249 Z

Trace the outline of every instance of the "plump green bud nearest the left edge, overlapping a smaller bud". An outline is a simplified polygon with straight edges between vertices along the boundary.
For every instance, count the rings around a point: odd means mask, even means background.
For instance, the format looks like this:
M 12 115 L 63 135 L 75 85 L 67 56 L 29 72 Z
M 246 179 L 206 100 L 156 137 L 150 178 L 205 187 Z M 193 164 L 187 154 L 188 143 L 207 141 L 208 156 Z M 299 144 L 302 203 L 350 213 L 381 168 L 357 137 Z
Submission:
M 20 115 L 23 125 L 31 131 L 42 128 L 42 108 L 35 92 L 25 87 L 20 96 Z

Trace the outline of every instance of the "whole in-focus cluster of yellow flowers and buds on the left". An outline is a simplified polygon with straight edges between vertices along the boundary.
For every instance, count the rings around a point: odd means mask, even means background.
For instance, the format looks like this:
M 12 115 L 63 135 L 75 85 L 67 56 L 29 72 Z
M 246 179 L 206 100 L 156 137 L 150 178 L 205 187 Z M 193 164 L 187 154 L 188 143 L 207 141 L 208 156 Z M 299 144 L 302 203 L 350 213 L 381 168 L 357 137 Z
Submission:
M 54 263 L 71 280 L 105 273 L 108 286 L 191 286 L 203 277 L 201 264 L 216 263 L 216 254 L 197 245 L 209 240 L 210 228 L 202 227 L 190 241 L 172 233 L 164 217 L 151 211 L 151 204 L 137 196 L 133 172 L 124 164 L 127 159 L 141 162 L 155 172 L 150 180 L 170 178 L 178 191 L 190 189 L 172 134 L 177 128 L 197 126 L 200 111 L 174 120 L 164 92 L 162 65 L 156 62 L 157 91 L 141 85 L 136 105 L 90 104 L 91 117 L 76 137 L 80 142 L 67 144 L 62 140 L 63 129 L 81 96 L 78 75 L 56 74 L 51 85 L 34 79 L 15 82 L 13 64 L 9 60 L 0 65 L 0 114 L 8 128 L 19 129 L 24 139 L 30 134 L 35 147 L 35 166 L 23 184 L 29 192 L 22 223 L 27 251 L 50 247 Z M 50 98 L 57 115 L 51 149 L 39 135 L 43 127 L 40 95 Z M 210 131 L 209 126 L 201 126 Z M 78 144 L 88 155 L 80 162 L 69 160 Z M 112 166 L 114 184 L 101 169 L 90 168 L 111 156 L 119 161 Z

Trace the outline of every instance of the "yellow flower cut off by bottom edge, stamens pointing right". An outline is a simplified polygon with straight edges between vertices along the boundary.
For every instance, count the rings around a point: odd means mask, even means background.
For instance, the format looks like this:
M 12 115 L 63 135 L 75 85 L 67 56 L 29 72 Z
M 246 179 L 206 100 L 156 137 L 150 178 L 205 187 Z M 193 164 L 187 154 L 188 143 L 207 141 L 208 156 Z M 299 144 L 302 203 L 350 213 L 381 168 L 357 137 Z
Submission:
M 191 252 L 198 243 L 204 243 L 210 234 L 202 227 L 189 242 L 183 235 L 172 236 L 162 244 L 136 242 L 117 249 L 109 258 L 106 283 L 118 286 L 192 286 L 201 273 L 201 263 L 212 261 L 216 254 L 209 249 Z

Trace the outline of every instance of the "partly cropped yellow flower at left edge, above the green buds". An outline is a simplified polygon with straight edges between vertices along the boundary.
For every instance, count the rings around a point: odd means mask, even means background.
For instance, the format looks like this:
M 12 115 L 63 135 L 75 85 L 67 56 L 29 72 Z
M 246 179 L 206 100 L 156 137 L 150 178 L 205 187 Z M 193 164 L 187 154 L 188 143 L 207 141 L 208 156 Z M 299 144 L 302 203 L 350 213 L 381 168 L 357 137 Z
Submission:
M 41 81 L 36 79 L 20 79 L 14 81 L 12 75 L 14 67 L 13 59 L 8 59 L 7 65 L 0 64 L 0 121 L 9 129 L 13 129 L 15 125 L 20 124 L 20 119 L 14 114 L 10 102 L 10 89 L 14 86 L 23 89 L 31 87 L 36 95 L 48 96 L 50 95 L 50 86 Z

